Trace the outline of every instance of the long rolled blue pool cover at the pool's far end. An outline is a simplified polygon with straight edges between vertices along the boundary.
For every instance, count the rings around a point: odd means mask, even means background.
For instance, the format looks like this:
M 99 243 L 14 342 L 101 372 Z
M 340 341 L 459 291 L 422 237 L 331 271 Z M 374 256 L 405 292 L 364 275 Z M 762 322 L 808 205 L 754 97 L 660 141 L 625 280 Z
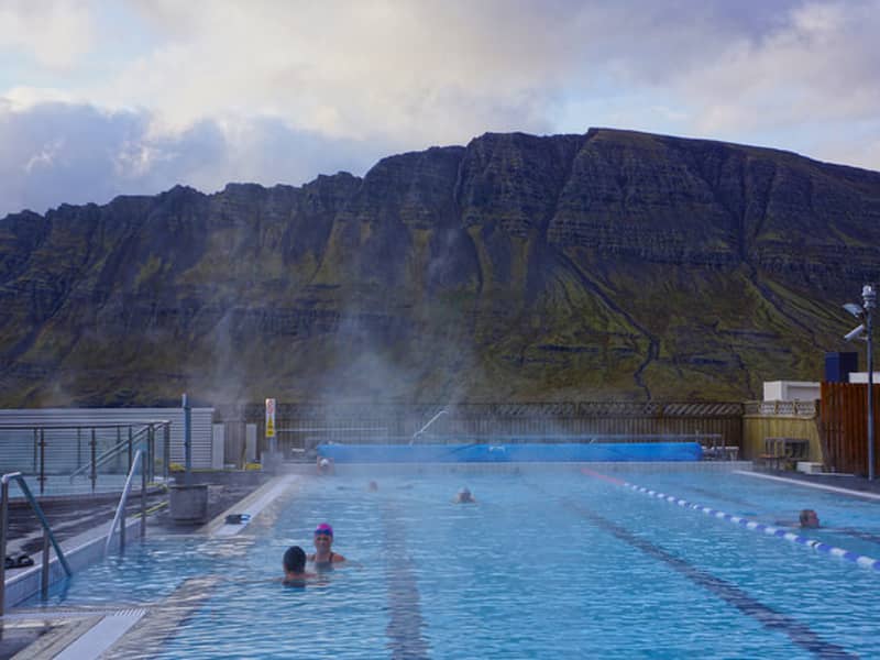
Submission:
M 700 461 L 698 442 L 597 442 L 515 444 L 319 444 L 337 463 L 536 463 Z

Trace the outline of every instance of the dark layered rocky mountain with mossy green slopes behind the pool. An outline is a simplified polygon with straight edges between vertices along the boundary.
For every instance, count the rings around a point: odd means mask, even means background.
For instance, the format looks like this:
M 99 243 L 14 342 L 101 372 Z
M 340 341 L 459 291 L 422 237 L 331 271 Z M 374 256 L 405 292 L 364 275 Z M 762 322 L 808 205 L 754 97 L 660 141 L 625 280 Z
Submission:
M 821 380 L 880 173 L 593 129 L 0 221 L 0 403 L 741 400 Z M 850 349 L 851 350 L 851 349 Z

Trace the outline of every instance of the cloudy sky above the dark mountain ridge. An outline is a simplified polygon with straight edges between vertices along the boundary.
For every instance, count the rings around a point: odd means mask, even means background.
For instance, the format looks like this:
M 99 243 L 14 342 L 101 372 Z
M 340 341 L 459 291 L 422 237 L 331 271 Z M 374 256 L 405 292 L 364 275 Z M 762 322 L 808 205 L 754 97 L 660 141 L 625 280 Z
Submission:
M 0 217 L 486 131 L 880 169 L 880 0 L 0 0 Z

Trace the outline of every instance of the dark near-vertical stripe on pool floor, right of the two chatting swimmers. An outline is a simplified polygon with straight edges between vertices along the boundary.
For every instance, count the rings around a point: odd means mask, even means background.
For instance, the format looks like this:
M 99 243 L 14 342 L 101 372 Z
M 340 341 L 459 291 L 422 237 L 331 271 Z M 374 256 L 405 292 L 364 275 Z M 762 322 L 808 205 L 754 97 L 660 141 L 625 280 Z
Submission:
M 429 647 L 422 637 L 426 624 L 421 616 L 415 566 L 406 550 L 404 528 L 396 506 L 386 501 L 382 506 L 382 542 L 391 616 L 385 628 L 388 636 L 386 646 L 396 660 L 427 659 L 430 658 Z

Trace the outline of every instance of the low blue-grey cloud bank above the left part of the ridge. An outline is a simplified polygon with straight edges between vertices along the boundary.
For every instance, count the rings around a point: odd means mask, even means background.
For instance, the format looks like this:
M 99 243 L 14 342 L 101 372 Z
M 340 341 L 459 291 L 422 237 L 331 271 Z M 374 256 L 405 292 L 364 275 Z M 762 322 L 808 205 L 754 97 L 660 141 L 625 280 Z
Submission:
M 382 145 L 292 131 L 273 120 L 204 120 L 155 135 L 146 111 L 106 112 L 44 103 L 0 103 L 0 217 L 62 202 L 106 204 L 118 195 L 154 195 L 176 184 L 206 193 L 229 182 L 301 184 L 348 163 L 355 174 Z

